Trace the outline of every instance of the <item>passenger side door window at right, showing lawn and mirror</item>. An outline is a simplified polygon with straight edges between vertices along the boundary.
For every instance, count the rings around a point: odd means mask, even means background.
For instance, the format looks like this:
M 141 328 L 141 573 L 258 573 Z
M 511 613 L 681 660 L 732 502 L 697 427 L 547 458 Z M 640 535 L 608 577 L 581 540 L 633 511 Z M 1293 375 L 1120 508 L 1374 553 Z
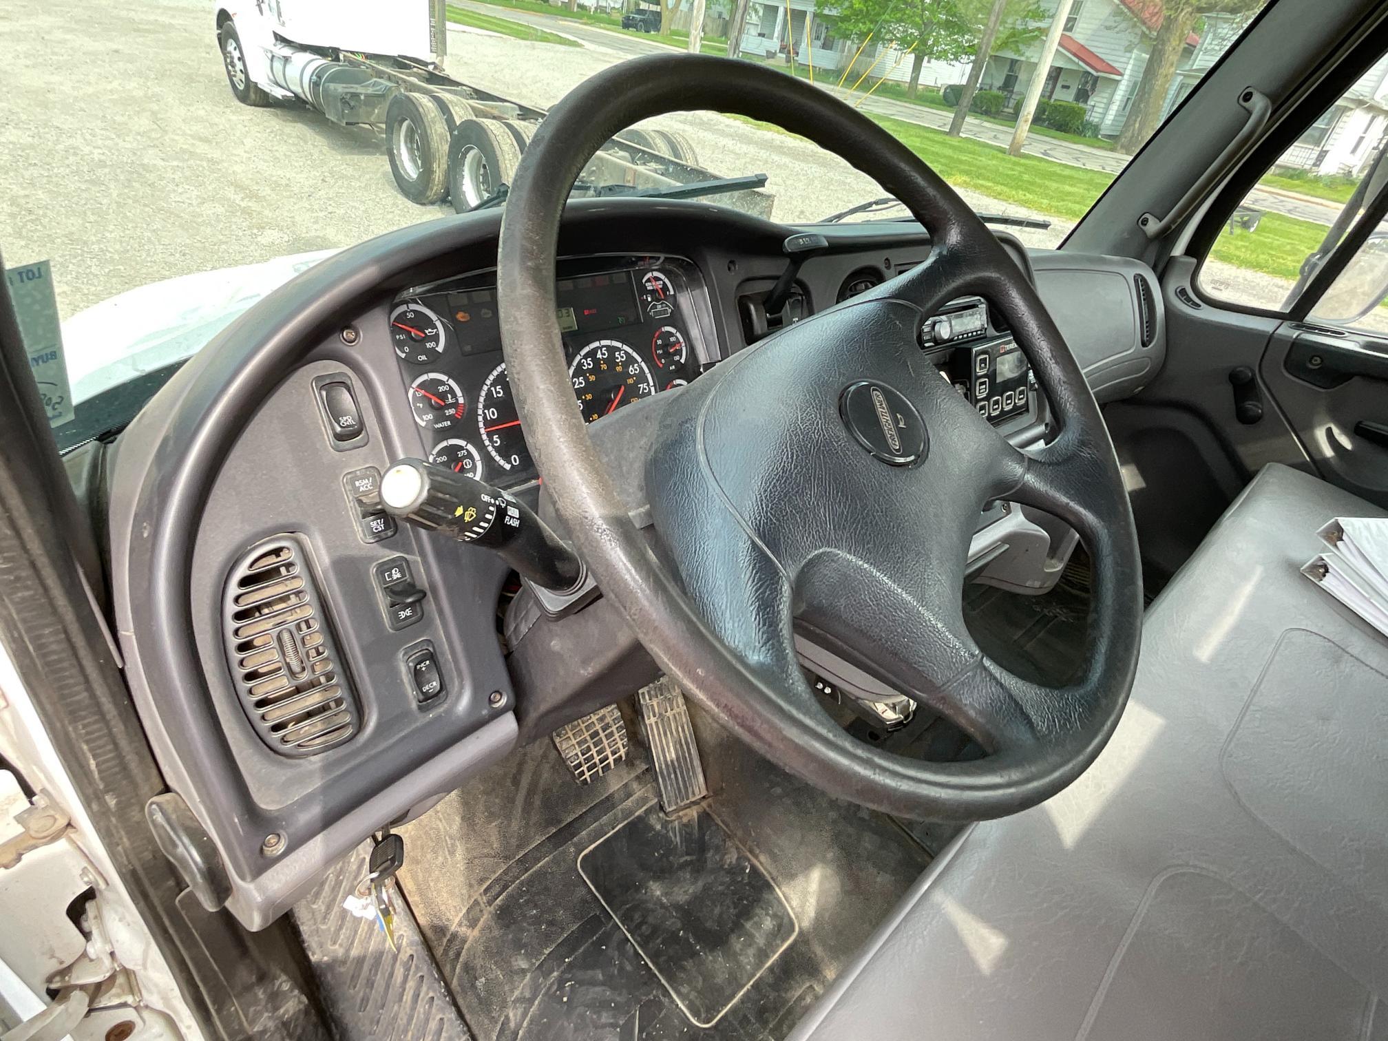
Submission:
M 1330 105 L 1230 214 L 1199 289 L 1237 307 L 1289 311 L 1388 179 L 1388 57 Z M 1388 225 L 1312 307 L 1319 322 L 1388 333 Z

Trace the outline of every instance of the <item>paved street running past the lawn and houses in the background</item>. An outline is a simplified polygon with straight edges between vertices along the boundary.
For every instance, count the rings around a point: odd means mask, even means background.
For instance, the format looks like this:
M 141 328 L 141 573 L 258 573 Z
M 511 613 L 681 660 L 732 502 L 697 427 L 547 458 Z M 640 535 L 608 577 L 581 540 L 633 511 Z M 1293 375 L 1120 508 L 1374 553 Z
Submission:
M 655 40 L 643 40 L 638 36 L 609 32 L 573 18 L 562 18 L 551 14 L 534 14 L 530 11 L 514 11 L 497 7 L 496 4 L 472 3 L 469 0 L 462 0 L 461 6 L 490 15 L 509 18 L 511 21 L 525 22 L 526 25 L 534 25 L 536 28 L 547 29 L 548 32 L 561 32 L 582 42 L 584 46 L 600 51 L 619 54 L 622 57 L 675 50 L 669 44 L 658 43 Z M 861 92 L 851 93 L 847 89 L 838 90 L 833 86 L 826 86 L 826 89 L 836 96 L 844 97 L 849 101 L 849 104 L 854 104 L 861 94 Z M 890 115 L 894 119 L 902 119 L 904 122 L 917 124 L 920 126 L 930 126 L 937 130 L 947 129 L 952 118 L 951 112 L 945 112 L 938 108 L 926 108 L 924 105 L 877 96 L 865 100 L 862 103 L 862 108 L 876 115 Z M 981 119 L 967 119 L 965 122 L 965 136 L 987 142 L 988 144 L 998 144 L 1005 149 L 1012 143 L 1012 128 L 999 126 L 998 124 Z M 1065 162 L 1084 169 L 1103 171 L 1106 174 L 1117 174 L 1127 165 L 1130 158 L 1120 153 L 1065 142 L 1058 137 L 1047 137 L 1040 133 L 1030 135 L 1022 150 L 1027 155 L 1038 155 L 1041 158 L 1053 160 L 1055 162 Z M 1276 214 L 1285 214 L 1288 217 L 1296 217 L 1302 221 L 1313 221 L 1324 225 L 1328 225 L 1339 214 L 1339 205 L 1335 203 L 1288 192 L 1274 193 L 1255 189 L 1249 194 L 1248 203 L 1259 210 L 1269 210 Z

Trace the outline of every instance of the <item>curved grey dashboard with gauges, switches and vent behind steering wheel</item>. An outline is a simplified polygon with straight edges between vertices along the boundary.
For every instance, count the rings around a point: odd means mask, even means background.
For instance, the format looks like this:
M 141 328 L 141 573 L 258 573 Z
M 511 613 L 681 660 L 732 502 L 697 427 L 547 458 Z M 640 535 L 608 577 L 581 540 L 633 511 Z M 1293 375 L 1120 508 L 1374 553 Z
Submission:
M 500 222 L 425 222 L 310 268 L 174 373 L 105 459 L 126 677 L 203 830 L 168 848 L 215 851 L 204 888 L 251 929 L 369 833 L 654 679 L 609 601 L 558 620 L 523 595 L 507 607 L 496 554 L 372 505 L 390 462 L 428 455 L 544 509 L 501 354 Z M 652 409 L 633 403 L 677 393 L 930 250 L 909 222 L 816 226 L 827 251 L 768 312 L 783 243 L 801 230 L 705 203 L 570 204 L 555 305 L 575 408 L 636 423 Z M 1149 269 L 999 240 L 1101 400 L 1160 366 Z M 1047 439 L 1044 394 L 985 301 L 929 316 L 920 343 L 999 433 Z M 1038 591 L 1073 547 L 1062 529 L 999 504 L 980 518 L 970 575 Z M 283 637 L 280 609 L 296 626 Z

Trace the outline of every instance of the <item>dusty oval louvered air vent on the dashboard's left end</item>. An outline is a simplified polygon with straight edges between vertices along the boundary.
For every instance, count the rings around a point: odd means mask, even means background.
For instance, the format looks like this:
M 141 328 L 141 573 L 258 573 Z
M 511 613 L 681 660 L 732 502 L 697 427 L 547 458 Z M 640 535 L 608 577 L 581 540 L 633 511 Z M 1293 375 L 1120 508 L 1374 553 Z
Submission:
M 314 755 L 357 733 L 357 700 L 298 540 L 269 539 L 237 561 L 222 633 L 242 708 L 273 751 Z

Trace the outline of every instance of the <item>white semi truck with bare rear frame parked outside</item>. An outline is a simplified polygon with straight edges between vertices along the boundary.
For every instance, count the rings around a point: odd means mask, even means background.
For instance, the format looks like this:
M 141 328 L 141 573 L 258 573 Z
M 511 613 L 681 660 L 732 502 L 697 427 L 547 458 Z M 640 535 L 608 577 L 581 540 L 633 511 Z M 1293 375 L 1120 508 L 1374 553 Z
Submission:
M 444 0 L 214 0 L 214 7 L 237 100 L 303 103 L 343 126 L 378 129 L 401 194 L 422 205 L 447 198 L 464 212 L 500 201 L 545 115 L 444 72 Z M 770 215 L 773 198 L 755 190 L 759 183 L 718 180 L 697 165 L 688 139 L 670 130 L 625 130 L 593 157 L 576 193 L 679 196 L 682 186 Z

